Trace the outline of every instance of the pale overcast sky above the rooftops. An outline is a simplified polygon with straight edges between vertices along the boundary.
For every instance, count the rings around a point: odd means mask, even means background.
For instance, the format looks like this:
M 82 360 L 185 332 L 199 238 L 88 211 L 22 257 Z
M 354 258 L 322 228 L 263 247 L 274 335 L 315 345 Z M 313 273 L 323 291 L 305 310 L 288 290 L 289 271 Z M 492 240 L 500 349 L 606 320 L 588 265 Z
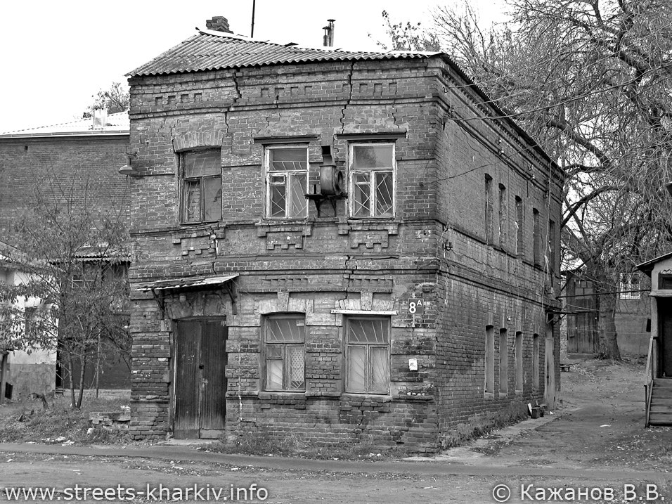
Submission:
M 502 0 L 469 0 L 484 20 L 501 18 Z M 393 22 L 429 22 L 437 4 L 463 0 L 257 0 L 254 38 L 320 47 L 322 27 L 335 22 L 335 46 L 375 51 L 385 39 L 381 13 Z M 252 0 L 12 1 L 0 15 L 4 77 L 0 131 L 81 117 L 91 96 L 205 28 L 214 15 L 234 33 L 250 35 Z M 373 40 L 368 34 L 373 35 Z

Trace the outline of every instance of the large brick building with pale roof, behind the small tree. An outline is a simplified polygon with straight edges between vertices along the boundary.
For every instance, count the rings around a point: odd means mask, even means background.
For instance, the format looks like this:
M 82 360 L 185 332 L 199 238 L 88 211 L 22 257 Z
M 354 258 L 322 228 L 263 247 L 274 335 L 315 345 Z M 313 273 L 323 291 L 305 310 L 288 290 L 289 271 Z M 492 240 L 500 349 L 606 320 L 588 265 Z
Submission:
M 90 119 L 0 134 L 0 239 L 14 243 L 12 228 L 20 214 L 39 198 L 59 198 L 58 185 L 74 189 L 68 196 L 75 204 L 86 199 L 100 209 L 128 208 L 128 183 L 119 176 L 119 168 L 128 164 L 128 144 L 127 112 L 107 115 L 98 110 Z M 57 387 L 67 386 L 64 378 L 56 375 Z M 85 382 L 95 384 L 93 366 Z M 105 366 L 98 384 L 129 388 L 128 366 Z

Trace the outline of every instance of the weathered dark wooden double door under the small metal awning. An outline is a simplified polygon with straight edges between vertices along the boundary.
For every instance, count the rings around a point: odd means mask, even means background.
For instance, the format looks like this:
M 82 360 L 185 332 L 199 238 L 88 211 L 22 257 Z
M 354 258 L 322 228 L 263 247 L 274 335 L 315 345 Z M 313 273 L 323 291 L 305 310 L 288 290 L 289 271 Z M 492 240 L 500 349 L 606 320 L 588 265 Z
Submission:
M 176 322 L 176 439 L 215 439 L 226 419 L 226 336 L 223 319 Z

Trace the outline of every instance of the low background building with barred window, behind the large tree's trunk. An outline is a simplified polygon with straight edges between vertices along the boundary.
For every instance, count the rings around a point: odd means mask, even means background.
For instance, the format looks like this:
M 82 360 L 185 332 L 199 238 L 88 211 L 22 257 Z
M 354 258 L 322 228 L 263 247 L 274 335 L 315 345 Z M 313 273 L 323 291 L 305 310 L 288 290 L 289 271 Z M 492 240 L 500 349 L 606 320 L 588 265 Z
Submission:
M 566 300 L 567 352 L 570 354 L 597 354 L 599 333 L 597 314 L 599 303 L 593 282 L 578 271 L 566 271 L 563 294 Z M 616 334 L 622 355 L 645 356 L 649 347 L 650 307 L 646 292 L 639 292 L 645 284 L 636 271 L 620 273 L 616 304 Z

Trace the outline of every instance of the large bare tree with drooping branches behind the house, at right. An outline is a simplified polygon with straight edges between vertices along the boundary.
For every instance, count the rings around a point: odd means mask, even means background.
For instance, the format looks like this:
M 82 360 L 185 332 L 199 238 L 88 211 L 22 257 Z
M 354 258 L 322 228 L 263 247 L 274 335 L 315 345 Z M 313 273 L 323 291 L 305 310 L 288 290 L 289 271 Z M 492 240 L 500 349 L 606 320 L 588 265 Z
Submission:
M 510 0 L 509 8 L 510 23 L 493 27 L 468 4 L 439 8 L 433 37 L 564 167 L 563 245 L 595 283 L 600 353 L 620 358 L 618 273 L 672 238 L 659 190 L 672 168 L 672 5 Z

